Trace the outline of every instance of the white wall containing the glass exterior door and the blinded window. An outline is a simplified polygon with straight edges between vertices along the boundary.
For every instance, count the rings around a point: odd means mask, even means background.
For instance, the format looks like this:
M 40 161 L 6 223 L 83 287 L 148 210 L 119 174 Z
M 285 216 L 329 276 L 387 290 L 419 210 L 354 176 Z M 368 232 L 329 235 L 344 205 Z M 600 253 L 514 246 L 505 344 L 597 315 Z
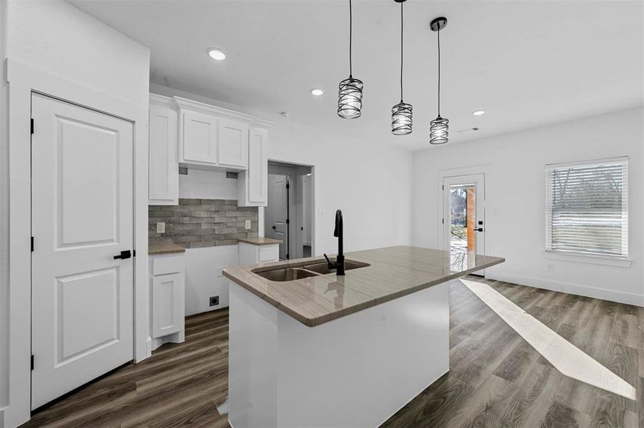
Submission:
M 642 108 L 414 153 L 413 243 L 438 247 L 438 171 L 488 165 L 486 235 L 506 262 L 488 277 L 644 305 Z M 629 156 L 630 267 L 546 260 L 545 164 Z M 545 270 L 546 264 L 553 271 Z

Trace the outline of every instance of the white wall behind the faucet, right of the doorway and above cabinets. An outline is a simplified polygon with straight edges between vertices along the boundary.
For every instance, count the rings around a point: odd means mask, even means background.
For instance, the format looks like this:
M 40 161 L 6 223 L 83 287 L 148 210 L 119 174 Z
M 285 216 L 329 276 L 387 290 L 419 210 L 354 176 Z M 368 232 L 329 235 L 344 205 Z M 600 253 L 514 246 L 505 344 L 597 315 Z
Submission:
M 361 138 L 360 121 L 356 134 L 349 136 L 173 88 L 153 84 L 151 91 L 274 121 L 268 131 L 268 158 L 315 166 L 314 205 L 316 213 L 324 212 L 314 224 L 317 255 L 337 251 L 333 238 L 337 208 L 343 210 L 346 251 L 411 242 L 411 153 Z

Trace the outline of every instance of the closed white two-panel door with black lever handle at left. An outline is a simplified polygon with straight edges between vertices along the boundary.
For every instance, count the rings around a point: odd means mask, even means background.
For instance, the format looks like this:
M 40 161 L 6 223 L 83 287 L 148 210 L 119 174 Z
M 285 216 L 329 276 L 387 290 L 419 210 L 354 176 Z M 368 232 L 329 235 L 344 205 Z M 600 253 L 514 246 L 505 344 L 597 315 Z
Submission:
M 31 408 L 132 360 L 132 123 L 31 96 Z

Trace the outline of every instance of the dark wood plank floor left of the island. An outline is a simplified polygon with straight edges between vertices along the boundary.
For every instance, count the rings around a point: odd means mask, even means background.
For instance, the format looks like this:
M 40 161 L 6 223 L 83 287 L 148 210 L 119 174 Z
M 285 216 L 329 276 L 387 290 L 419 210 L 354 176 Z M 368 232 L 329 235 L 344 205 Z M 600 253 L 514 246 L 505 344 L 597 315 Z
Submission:
M 228 309 L 186 318 L 168 343 L 37 412 L 22 427 L 229 427 Z

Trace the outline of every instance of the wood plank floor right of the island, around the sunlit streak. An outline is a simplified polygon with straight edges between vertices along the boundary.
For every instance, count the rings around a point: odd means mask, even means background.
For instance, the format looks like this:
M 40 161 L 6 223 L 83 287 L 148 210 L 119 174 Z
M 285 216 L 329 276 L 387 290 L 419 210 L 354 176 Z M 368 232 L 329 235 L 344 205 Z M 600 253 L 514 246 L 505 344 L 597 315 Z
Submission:
M 644 427 L 644 309 L 485 282 L 637 388 L 635 402 L 566 377 L 460 281 L 450 288 L 451 371 L 383 427 Z M 641 421 L 641 422 L 640 422 Z

